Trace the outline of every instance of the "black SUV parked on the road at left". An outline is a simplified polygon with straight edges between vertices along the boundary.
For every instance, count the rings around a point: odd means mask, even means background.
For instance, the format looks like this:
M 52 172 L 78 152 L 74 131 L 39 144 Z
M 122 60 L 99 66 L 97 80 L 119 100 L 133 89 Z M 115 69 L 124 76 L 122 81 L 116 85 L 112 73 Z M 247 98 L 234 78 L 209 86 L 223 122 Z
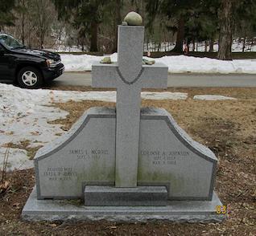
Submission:
M 0 34 L 0 82 L 13 81 L 20 87 L 36 88 L 63 72 L 60 55 L 28 49 L 10 35 Z

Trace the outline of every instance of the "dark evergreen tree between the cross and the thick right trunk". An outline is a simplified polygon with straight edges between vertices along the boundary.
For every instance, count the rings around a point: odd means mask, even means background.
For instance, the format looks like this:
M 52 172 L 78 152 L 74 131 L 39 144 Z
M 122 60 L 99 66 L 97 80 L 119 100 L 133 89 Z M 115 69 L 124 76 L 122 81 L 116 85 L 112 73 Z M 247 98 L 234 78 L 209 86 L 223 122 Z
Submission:
M 184 42 L 189 44 L 195 40 L 213 39 L 217 31 L 214 9 L 209 9 L 207 1 L 176 1 L 176 0 L 147 0 L 147 12 L 154 21 L 156 15 L 162 15 L 171 23 L 166 25 L 168 31 L 176 35 L 175 47 L 172 51 L 183 52 Z

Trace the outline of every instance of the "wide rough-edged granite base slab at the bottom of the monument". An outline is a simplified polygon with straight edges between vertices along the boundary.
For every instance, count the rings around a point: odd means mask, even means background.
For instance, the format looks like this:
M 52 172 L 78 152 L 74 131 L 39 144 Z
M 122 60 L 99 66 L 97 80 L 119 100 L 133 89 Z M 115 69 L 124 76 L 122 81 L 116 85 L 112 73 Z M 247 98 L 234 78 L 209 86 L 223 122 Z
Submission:
M 226 216 L 216 213 L 222 205 L 216 193 L 212 201 L 167 201 L 166 206 L 85 206 L 73 200 L 37 200 L 33 189 L 23 208 L 23 220 L 147 222 L 221 222 Z

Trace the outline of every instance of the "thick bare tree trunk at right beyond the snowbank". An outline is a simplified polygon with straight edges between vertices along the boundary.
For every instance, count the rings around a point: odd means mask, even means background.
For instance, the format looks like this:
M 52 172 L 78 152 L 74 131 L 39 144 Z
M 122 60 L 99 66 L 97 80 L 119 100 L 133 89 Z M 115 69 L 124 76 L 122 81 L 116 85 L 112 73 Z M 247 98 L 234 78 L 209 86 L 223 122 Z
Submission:
M 232 4 L 233 0 L 221 0 L 221 7 L 218 12 L 220 24 L 220 40 L 217 59 L 231 60 L 232 47 Z

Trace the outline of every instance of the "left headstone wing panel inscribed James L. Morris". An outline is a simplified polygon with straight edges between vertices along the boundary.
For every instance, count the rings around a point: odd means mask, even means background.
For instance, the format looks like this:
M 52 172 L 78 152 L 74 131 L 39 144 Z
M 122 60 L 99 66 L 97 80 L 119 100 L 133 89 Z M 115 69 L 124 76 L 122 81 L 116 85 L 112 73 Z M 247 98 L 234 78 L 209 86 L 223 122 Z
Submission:
M 35 159 L 39 199 L 78 198 L 86 183 L 114 183 L 115 115 L 91 115 L 70 141 Z

